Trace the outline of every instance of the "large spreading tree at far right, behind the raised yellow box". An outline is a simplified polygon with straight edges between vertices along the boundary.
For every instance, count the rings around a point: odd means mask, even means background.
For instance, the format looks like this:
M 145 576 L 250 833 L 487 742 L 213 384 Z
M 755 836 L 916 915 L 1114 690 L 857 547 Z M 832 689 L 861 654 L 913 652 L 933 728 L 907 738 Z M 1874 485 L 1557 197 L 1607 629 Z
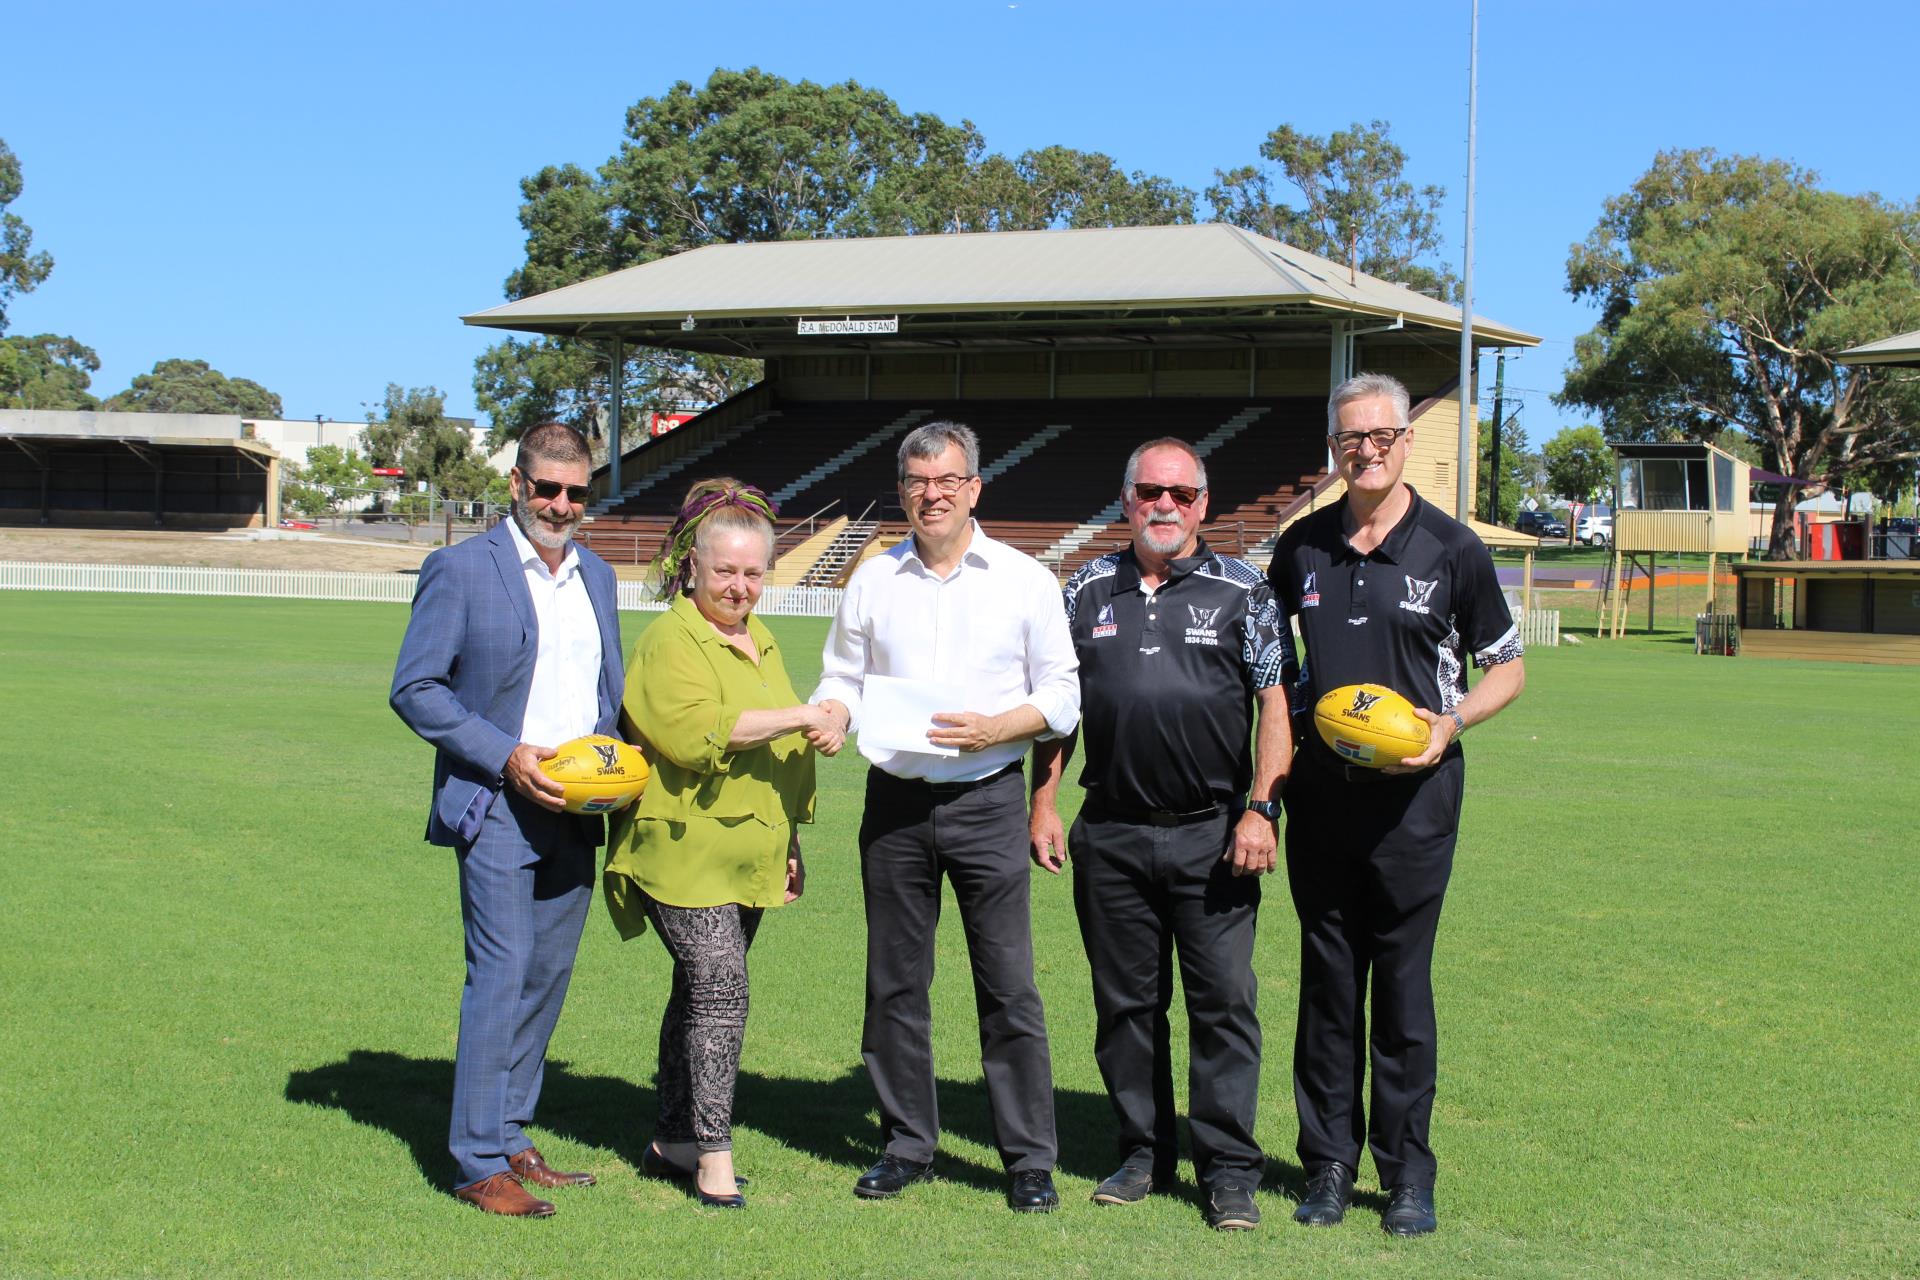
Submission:
M 1920 328 L 1920 209 L 1843 196 L 1788 161 L 1663 152 L 1605 203 L 1567 261 L 1601 319 L 1574 344 L 1561 403 L 1615 439 L 1751 436 L 1791 505 L 1920 459 L 1920 380 L 1837 365 L 1845 347 Z

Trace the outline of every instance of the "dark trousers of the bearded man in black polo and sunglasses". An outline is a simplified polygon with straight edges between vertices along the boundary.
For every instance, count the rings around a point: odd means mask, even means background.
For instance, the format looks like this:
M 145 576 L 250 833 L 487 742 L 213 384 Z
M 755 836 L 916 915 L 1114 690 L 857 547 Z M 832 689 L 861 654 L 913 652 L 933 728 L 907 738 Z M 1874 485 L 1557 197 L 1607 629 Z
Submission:
M 1231 821 L 1225 812 L 1169 827 L 1119 821 L 1089 798 L 1068 837 L 1073 908 L 1092 967 L 1094 1059 L 1119 1121 L 1119 1159 L 1150 1165 L 1156 1180 L 1171 1180 L 1179 1163 L 1167 1023 L 1175 948 L 1187 994 L 1194 1176 L 1206 1186 L 1236 1173 L 1258 1184 L 1265 1171 L 1254 1142 L 1260 877 L 1233 875 L 1221 860 Z

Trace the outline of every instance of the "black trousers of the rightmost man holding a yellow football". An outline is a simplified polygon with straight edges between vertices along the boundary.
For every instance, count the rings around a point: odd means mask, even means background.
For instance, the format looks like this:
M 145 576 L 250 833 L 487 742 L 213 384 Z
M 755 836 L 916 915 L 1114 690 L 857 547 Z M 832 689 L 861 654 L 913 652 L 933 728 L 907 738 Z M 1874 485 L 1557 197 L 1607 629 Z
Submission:
M 1350 777 L 1313 745 L 1296 756 L 1286 875 L 1300 913 L 1294 1107 L 1309 1171 L 1357 1167 L 1365 1142 L 1382 1186 L 1434 1182 L 1432 954 L 1463 779 L 1457 752 L 1402 777 Z

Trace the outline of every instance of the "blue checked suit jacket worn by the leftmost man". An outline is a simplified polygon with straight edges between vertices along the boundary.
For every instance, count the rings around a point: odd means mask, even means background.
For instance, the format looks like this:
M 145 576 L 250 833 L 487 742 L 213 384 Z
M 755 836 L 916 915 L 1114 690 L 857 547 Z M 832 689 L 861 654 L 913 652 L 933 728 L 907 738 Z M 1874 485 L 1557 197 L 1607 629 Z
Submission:
M 511 518 L 511 516 L 509 516 Z M 601 629 L 599 722 L 612 733 L 626 685 L 614 574 L 586 547 L 580 576 Z M 468 844 L 499 796 L 534 683 L 540 624 L 507 522 L 426 557 L 388 702 L 436 747 L 426 839 Z M 559 747 L 559 743 L 538 743 Z M 580 818 L 582 827 L 601 819 Z

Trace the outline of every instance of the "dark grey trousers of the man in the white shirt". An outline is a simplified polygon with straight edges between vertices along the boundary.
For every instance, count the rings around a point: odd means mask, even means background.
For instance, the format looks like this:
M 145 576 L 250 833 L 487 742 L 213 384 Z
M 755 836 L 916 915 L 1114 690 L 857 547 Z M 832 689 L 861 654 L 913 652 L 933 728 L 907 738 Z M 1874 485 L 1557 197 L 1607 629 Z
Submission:
M 958 794 L 870 770 L 860 821 L 866 900 L 866 1032 L 889 1155 L 933 1159 L 933 933 L 952 881 L 973 965 L 979 1059 L 1008 1171 L 1052 1169 L 1054 1075 L 1033 984 L 1027 800 L 1020 771 Z

